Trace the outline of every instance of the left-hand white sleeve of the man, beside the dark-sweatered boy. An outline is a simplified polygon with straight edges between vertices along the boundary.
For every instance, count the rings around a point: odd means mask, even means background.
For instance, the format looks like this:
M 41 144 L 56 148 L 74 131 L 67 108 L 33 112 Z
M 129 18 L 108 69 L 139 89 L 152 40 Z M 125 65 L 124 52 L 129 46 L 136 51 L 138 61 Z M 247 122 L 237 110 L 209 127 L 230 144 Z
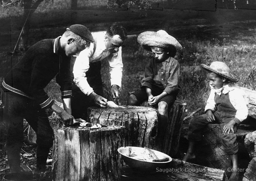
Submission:
M 80 52 L 80 54 L 76 57 L 76 61 L 74 63 L 73 74 L 74 74 L 74 82 L 80 90 L 89 95 L 93 92 L 93 89 L 89 85 L 86 72 L 89 69 L 89 57 L 93 53 L 93 44 L 91 43 L 90 48 L 86 48 Z

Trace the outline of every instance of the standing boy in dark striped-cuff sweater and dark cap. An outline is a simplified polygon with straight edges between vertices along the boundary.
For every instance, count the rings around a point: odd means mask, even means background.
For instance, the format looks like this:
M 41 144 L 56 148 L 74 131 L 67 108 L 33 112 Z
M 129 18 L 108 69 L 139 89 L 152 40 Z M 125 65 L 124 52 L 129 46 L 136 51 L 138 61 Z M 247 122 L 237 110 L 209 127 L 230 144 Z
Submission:
M 53 143 L 53 130 L 45 110 L 51 108 L 65 125 L 73 124 L 70 59 L 71 55 L 78 55 L 92 42 L 91 32 L 85 26 L 71 25 L 62 36 L 32 45 L 4 78 L 3 120 L 7 123 L 5 147 L 11 172 L 20 171 L 23 118 L 37 135 L 37 168 L 45 169 Z M 60 85 L 64 110 L 44 91 L 55 76 Z

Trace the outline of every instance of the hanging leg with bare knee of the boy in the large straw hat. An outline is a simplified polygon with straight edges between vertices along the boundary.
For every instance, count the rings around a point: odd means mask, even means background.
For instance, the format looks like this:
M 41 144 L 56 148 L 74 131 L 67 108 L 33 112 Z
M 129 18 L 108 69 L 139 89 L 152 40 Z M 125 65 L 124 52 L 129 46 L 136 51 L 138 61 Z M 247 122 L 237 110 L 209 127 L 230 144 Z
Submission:
M 167 112 L 168 112 L 168 105 L 166 102 L 161 101 L 158 104 L 158 132 L 157 132 L 157 143 L 156 149 L 161 151 L 163 138 L 165 135 L 166 127 L 167 127 Z

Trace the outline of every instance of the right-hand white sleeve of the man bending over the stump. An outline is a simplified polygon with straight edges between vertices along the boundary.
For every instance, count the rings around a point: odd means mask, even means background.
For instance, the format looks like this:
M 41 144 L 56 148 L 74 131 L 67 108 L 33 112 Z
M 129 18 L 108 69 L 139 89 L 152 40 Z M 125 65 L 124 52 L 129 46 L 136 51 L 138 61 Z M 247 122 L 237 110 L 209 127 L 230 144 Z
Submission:
M 122 81 L 122 71 L 123 71 L 123 62 L 122 62 L 122 47 L 120 46 L 118 52 L 113 56 L 109 56 L 109 73 L 110 73 L 110 82 L 112 85 L 118 85 L 121 87 Z

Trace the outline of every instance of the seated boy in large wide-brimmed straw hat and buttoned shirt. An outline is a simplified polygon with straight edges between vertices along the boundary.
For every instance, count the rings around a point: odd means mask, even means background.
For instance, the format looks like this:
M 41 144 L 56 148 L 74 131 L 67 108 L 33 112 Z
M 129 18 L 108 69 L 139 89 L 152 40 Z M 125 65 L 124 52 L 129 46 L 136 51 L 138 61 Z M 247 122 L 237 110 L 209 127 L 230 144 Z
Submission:
M 181 89 L 180 65 L 176 59 L 182 57 L 183 49 L 174 37 L 163 30 L 139 34 L 138 43 L 152 52 L 154 57 L 146 64 L 141 89 L 129 96 L 128 105 L 139 105 L 148 100 L 150 105 L 158 107 L 157 149 L 161 151 L 168 108 L 172 106 Z

